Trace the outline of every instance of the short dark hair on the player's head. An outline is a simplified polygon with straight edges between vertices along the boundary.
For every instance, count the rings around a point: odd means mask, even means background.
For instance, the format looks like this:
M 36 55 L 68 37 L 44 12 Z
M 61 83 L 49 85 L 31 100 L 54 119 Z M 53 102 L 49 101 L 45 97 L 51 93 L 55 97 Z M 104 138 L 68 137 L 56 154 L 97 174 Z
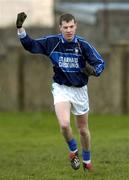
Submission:
M 71 20 L 74 20 L 74 22 L 76 23 L 76 19 L 75 19 L 74 15 L 69 14 L 69 13 L 65 13 L 65 14 L 62 14 L 62 15 L 60 16 L 59 24 L 61 25 L 61 24 L 62 24 L 62 21 L 69 22 L 69 21 L 71 21 Z

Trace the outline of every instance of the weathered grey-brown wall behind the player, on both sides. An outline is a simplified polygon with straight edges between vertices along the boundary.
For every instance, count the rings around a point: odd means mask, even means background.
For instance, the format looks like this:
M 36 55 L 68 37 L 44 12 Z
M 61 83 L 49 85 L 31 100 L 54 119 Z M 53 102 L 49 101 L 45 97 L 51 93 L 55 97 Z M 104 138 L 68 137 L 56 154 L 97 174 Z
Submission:
M 129 42 L 112 44 L 101 52 L 106 68 L 89 79 L 92 113 L 129 113 Z M 21 46 L 0 49 L 0 111 L 53 109 L 52 65 L 48 58 L 31 55 Z

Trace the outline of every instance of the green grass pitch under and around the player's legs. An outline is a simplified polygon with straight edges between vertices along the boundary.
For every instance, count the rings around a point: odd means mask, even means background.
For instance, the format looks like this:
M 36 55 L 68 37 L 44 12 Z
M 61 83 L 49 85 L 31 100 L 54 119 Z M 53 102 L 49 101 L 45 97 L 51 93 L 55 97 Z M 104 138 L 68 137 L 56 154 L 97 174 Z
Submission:
M 128 180 L 129 116 L 90 115 L 89 125 L 94 171 L 84 173 L 71 169 L 54 113 L 0 113 L 0 180 Z

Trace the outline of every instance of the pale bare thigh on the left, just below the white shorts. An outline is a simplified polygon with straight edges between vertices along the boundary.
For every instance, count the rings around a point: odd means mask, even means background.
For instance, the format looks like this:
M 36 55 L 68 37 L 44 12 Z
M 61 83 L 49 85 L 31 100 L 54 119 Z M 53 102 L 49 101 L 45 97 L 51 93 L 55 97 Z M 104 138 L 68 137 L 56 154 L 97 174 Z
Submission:
M 56 116 L 61 126 L 67 126 L 70 123 L 70 109 L 71 104 L 69 101 L 55 104 Z

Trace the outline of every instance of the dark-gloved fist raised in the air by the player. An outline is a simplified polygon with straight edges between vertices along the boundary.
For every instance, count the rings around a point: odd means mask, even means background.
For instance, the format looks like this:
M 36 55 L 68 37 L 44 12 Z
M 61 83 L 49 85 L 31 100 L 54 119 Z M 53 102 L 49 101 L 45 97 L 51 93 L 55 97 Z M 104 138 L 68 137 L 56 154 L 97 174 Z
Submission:
M 16 27 L 21 28 L 22 24 L 24 23 L 27 15 L 24 12 L 21 12 L 17 15 L 17 20 L 16 20 Z

